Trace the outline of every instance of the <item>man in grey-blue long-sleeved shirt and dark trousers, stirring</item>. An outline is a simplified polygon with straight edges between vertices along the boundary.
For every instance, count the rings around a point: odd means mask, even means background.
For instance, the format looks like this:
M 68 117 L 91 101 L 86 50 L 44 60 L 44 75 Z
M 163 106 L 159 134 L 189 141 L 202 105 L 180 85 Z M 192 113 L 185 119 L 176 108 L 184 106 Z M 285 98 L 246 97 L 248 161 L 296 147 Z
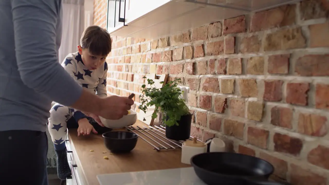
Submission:
M 55 101 L 107 119 L 133 100 L 100 99 L 59 64 L 61 0 L 0 1 L 0 184 L 47 185 L 45 131 Z

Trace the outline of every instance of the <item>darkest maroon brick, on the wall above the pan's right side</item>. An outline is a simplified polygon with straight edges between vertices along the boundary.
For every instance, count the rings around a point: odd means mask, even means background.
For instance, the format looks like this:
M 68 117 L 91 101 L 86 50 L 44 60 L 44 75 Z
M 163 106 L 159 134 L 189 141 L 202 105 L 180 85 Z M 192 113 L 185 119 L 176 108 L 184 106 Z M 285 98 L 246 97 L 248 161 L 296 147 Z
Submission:
M 302 140 L 285 134 L 275 133 L 273 142 L 275 151 L 289 153 L 295 156 L 299 155 L 303 148 Z

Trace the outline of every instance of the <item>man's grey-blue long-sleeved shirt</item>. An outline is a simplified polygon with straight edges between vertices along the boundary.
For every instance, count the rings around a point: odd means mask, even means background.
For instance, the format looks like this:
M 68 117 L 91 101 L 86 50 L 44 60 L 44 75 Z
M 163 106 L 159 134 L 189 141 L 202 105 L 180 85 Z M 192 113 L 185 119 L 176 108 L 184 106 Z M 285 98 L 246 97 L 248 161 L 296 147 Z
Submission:
M 0 1 L 0 131 L 45 131 L 52 101 L 80 97 L 58 59 L 61 14 L 61 0 Z

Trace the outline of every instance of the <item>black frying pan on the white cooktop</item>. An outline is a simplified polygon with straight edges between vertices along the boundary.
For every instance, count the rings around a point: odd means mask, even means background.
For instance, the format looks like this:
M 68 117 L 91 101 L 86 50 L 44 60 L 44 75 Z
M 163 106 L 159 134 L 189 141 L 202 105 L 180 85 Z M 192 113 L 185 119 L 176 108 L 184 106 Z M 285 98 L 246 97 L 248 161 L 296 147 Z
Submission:
M 229 152 L 201 153 L 191 158 L 196 175 L 208 185 L 290 185 L 270 182 L 274 167 L 257 157 Z

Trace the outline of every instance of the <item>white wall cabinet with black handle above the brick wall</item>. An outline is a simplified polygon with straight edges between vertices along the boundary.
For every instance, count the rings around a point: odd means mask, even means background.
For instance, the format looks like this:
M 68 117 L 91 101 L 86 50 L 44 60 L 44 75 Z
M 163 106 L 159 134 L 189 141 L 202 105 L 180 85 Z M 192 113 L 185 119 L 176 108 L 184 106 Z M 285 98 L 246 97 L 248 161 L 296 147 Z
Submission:
M 119 20 L 116 16 L 119 0 L 109 0 L 108 31 L 113 36 L 158 39 L 193 27 L 298 1 L 120 0 L 120 16 L 124 17 L 124 21 L 115 24 L 115 20 Z

